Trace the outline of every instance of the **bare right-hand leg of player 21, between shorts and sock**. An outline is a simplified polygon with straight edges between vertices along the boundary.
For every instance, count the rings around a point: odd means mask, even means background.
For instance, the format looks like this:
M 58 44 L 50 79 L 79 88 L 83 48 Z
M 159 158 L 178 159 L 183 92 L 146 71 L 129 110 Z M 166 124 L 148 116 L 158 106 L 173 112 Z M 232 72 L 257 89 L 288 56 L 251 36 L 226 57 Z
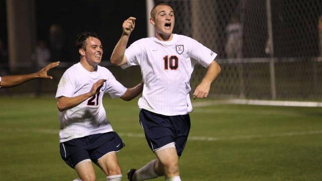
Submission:
M 116 152 L 110 152 L 97 161 L 97 164 L 107 176 L 121 174 L 122 170 Z

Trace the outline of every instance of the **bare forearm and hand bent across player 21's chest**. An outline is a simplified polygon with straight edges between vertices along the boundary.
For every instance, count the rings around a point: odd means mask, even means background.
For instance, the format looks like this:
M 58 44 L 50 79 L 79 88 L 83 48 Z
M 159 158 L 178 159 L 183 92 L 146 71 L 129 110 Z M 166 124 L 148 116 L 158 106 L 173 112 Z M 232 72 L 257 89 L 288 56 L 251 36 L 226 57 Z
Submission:
M 102 87 L 103 83 L 105 82 L 105 79 L 99 79 L 97 82 L 95 82 L 91 88 L 91 91 L 88 93 L 85 93 L 83 95 L 79 95 L 76 97 L 59 97 L 58 102 L 57 102 L 57 108 L 59 111 L 65 111 L 68 109 L 71 109 L 81 103 L 83 103 L 85 100 L 93 97 L 96 95 L 99 91 L 100 88 Z

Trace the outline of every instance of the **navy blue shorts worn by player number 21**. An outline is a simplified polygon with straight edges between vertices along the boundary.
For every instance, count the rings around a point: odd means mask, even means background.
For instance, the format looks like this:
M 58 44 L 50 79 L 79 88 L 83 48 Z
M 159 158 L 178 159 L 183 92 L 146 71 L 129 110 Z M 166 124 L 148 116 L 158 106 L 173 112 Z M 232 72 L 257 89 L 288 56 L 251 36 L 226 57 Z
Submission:
M 75 138 L 59 145 L 61 158 L 72 168 L 85 159 L 96 163 L 105 154 L 119 151 L 125 146 L 123 140 L 113 131 Z

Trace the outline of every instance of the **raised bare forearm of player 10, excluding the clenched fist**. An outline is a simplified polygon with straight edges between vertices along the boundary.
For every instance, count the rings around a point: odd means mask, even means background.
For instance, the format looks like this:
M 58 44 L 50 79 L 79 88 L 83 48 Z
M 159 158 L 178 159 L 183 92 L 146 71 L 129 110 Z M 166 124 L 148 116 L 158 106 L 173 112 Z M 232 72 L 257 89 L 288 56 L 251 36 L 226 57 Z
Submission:
M 129 40 L 129 35 L 122 34 L 120 40 L 117 42 L 113 53 L 111 55 L 111 63 L 114 65 L 122 65 L 124 62 L 124 53 L 126 49 L 127 42 Z

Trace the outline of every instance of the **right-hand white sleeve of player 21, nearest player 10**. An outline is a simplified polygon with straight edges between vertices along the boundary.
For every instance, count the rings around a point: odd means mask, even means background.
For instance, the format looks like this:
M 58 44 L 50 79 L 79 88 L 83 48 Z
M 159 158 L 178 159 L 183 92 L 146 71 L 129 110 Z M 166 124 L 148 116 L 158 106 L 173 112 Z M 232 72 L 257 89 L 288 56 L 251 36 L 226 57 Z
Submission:
M 127 88 L 117 81 L 113 74 L 109 72 L 105 93 L 109 93 L 112 98 L 119 98 L 125 94 L 126 90 Z

